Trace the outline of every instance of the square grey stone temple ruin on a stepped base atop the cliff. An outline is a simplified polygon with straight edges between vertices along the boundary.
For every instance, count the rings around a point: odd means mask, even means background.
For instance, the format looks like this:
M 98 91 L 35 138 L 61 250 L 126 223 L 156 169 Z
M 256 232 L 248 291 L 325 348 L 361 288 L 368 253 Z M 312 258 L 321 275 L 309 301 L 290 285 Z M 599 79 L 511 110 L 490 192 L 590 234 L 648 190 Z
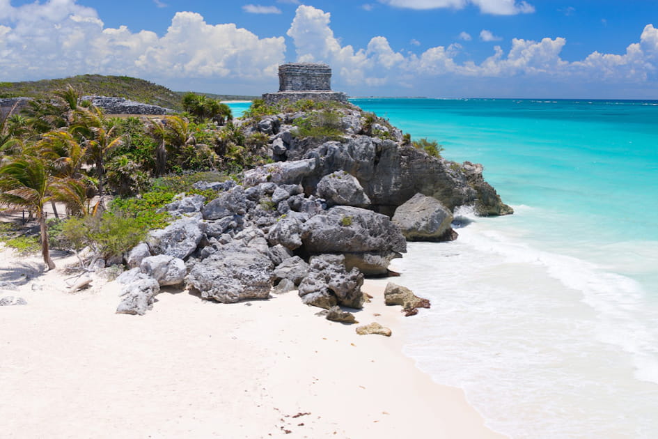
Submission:
M 331 90 L 331 68 L 327 64 L 287 63 L 279 66 L 279 91 L 265 93 L 268 105 L 281 100 L 310 99 L 347 102 L 347 95 Z

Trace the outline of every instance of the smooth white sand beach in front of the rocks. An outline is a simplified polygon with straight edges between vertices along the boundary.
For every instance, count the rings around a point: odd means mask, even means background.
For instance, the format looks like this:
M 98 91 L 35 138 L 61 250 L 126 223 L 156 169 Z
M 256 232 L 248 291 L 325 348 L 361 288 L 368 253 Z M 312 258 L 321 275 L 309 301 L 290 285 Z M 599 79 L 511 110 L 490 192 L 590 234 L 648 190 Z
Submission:
M 0 307 L 3 438 L 503 437 L 402 355 L 385 279 L 366 281 L 357 319 L 390 338 L 315 316 L 296 293 L 224 305 L 165 288 L 145 316 L 115 314 L 115 283 L 68 293 L 75 257 L 54 260 L 42 272 L 38 256 L 0 252 L 0 281 L 20 284 L 0 298 L 27 301 Z

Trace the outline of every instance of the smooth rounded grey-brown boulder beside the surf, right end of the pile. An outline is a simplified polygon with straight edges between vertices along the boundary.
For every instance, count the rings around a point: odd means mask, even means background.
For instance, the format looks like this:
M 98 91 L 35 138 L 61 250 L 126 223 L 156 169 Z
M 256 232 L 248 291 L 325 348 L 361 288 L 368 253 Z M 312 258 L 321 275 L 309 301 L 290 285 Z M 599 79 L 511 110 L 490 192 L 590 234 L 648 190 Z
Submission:
M 416 194 L 395 209 L 391 219 L 410 241 L 448 241 L 457 238 L 451 222 L 453 214 L 441 201 Z

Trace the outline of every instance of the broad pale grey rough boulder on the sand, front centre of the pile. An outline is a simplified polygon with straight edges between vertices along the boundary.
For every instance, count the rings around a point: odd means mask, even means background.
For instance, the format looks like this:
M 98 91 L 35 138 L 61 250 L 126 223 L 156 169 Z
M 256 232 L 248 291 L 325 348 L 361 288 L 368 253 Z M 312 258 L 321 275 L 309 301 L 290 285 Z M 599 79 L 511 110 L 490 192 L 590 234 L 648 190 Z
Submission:
M 272 289 L 272 260 L 254 247 L 230 242 L 203 261 L 187 275 L 187 285 L 204 299 L 222 303 L 247 299 L 265 299 Z

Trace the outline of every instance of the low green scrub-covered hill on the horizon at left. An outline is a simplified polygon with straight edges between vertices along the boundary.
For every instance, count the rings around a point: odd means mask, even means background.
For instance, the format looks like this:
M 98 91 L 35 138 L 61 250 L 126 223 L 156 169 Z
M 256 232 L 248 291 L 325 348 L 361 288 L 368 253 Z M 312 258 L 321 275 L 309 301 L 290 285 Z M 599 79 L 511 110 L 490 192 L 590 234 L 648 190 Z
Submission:
M 79 75 L 63 79 L 0 82 L 0 98 L 19 96 L 46 98 L 54 91 L 65 88 L 67 84 L 84 95 L 114 96 L 171 109 L 182 109 L 180 94 L 144 79 L 127 76 Z

